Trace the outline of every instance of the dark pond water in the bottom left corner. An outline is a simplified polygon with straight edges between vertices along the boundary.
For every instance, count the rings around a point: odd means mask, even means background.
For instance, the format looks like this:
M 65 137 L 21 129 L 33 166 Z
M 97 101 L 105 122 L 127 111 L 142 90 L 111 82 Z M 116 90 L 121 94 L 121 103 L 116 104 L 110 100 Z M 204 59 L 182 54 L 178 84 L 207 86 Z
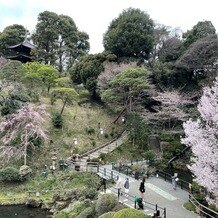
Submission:
M 40 208 L 30 208 L 25 205 L 0 206 L 0 218 L 46 218 L 49 213 Z

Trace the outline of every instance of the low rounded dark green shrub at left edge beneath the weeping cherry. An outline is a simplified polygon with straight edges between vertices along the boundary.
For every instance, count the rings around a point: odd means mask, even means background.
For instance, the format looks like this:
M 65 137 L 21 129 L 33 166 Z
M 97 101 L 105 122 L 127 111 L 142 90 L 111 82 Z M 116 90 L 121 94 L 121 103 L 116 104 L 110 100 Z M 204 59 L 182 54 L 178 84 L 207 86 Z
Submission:
M 20 181 L 19 170 L 13 167 L 7 167 L 0 170 L 0 180 L 3 182 Z

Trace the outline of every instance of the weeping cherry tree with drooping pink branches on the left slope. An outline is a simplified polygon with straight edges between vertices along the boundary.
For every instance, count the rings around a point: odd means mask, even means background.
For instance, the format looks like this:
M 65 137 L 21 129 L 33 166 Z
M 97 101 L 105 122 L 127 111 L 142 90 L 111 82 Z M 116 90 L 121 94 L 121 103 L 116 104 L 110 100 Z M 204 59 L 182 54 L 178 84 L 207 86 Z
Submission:
M 28 147 L 34 148 L 33 140 L 47 140 L 43 114 L 44 105 L 34 107 L 28 104 L 4 118 L 0 123 L 0 160 L 24 157 L 26 165 Z

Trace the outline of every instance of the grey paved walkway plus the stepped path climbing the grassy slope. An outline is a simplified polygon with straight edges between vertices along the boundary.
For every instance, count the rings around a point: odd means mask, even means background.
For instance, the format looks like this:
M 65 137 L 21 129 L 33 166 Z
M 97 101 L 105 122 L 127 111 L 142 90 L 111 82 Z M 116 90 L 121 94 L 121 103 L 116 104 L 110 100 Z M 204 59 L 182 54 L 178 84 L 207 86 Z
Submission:
M 113 151 L 115 148 L 120 146 L 124 141 L 127 140 L 127 133 L 123 132 L 121 136 L 115 140 L 113 140 L 111 143 L 107 143 L 105 145 L 102 145 L 98 148 L 93 149 L 90 152 L 87 152 L 86 154 L 83 154 L 80 161 L 84 164 L 87 163 L 87 160 L 90 158 L 97 158 L 100 156 L 101 153 L 109 153 Z M 100 166 L 100 172 L 104 172 L 106 170 L 109 170 L 110 173 L 113 171 L 113 177 L 116 178 L 119 176 L 122 181 L 125 181 L 125 178 L 127 177 L 125 174 L 119 173 L 118 171 L 112 170 L 112 165 L 102 165 Z M 105 177 L 103 173 L 98 173 L 101 177 Z M 128 176 L 130 180 L 130 191 L 129 194 L 131 196 L 139 196 L 139 184 L 140 181 L 135 180 L 134 178 Z M 185 190 L 182 190 L 180 188 L 177 188 L 175 191 L 171 185 L 171 183 L 164 181 L 163 179 L 156 178 L 156 177 L 150 177 L 146 180 L 145 183 L 146 186 L 146 192 L 145 192 L 145 201 L 153 203 L 154 205 L 157 204 L 160 207 L 166 208 L 166 217 L 167 218 L 198 218 L 197 214 L 190 212 L 186 210 L 183 207 L 183 204 L 188 201 L 188 192 Z M 124 189 L 123 189 L 124 191 Z M 107 189 L 107 192 L 116 192 L 115 186 Z M 133 200 L 129 200 L 125 197 L 121 197 L 120 201 L 124 203 L 128 207 L 134 208 Z M 144 212 L 149 215 L 153 215 L 153 211 L 149 208 L 146 208 L 145 203 L 145 209 Z

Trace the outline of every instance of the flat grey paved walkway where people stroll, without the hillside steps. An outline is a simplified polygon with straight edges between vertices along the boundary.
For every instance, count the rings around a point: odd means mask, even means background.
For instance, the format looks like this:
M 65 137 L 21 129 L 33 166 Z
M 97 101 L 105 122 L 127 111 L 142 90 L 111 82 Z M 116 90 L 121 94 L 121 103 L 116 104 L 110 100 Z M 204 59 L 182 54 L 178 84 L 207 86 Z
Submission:
M 100 167 L 100 172 L 103 172 L 103 168 L 106 168 L 108 170 L 112 170 L 111 165 L 103 165 Z M 117 171 L 113 170 L 113 175 L 117 176 L 122 179 L 122 181 L 125 181 L 125 178 L 127 177 L 125 174 L 119 173 Z M 102 173 L 100 173 L 100 176 L 103 176 Z M 130 180 L 130 189 L 129 194 L 132 196 L 140 196 L 139 195 L 139 185 L 140 181 L 135 180 L 132 177 L 129 177 Z M 166 217 L 167 218 L 197 218 L 199 217 L 197 214 L 190 212 L 186 210 L 183 207 L 184 202 L 188 201 L 188 192 L 185 190 L 182 190 L 180 188 L 177 188 L 177 190 L 174 190 L 172 188 L 172 184 L 169 182 L 164 181 L 161 178 L 156 177 L 150 177 L 146 180 L 145 183 L 146 191 L 144 194 L 144 200 L 148 201 L 152 204 L 157 204 L 158 206 L 162 208 L 166 208 Z M 115 187 L 110 188 L 107 190 L 107 192 L 115 191 Z M 122 190 L 124 191 L 124 189 Z M 133 201 L 128 200 L 125 197 L 121 197 L 120 201 L 124 204 L 126 204 L 129 207 L 134 207 Z M 153 215 L 153 211 L 147 208 L 146 206 L 149 206 L 145 203 L 145 213 L 149 215 Z

